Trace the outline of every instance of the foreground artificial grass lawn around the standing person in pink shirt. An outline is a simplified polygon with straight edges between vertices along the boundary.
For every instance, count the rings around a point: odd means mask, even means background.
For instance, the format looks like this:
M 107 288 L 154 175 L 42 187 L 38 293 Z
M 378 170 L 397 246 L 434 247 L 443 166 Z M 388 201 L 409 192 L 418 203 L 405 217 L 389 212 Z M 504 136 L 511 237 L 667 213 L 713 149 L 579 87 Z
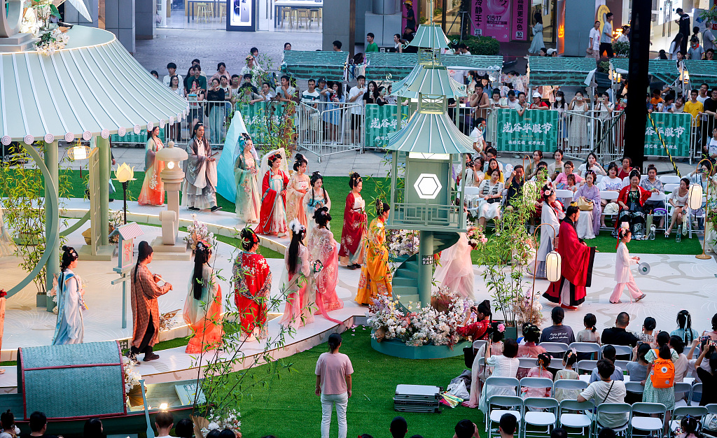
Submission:
M 426 438 L 452 437 L 455 424 L 462 419 L 475 422 L 483 432 L 483 415 L 478 409 L 442 405 L 440 414 L 400 413 L 394 411 L 394 391 L 398 384 L 434 385 L 445 387 L 464 369 L 463 355 L 455 358 L 409 360 L 386 356 L 371 348 L 370 330 L 359 326 L 342 334 L 341 353 L 353 365 L 353 395 L 348 399 L 346 421 L 348 437 L 371 434 L 389 437 L 389 424 L 401 415 L 408 422 L 408 434 Z M 321 343 L 308 351 L 283 359 L 292 363 L 291 371 L 281 371 L 266 387 L 260 385 L 244 391 L 240 402 L 242 435 L 278 438 L 320 437 L 321 404 L 314 394 L 316 361 L 328 350 Z M 267 373 L 267 366 L 250 371 L 257 379 Z M 245 380 L 246 381 L 246 380 Z M 336 412 L 331 424 L 331 437 L 336 437 Z

